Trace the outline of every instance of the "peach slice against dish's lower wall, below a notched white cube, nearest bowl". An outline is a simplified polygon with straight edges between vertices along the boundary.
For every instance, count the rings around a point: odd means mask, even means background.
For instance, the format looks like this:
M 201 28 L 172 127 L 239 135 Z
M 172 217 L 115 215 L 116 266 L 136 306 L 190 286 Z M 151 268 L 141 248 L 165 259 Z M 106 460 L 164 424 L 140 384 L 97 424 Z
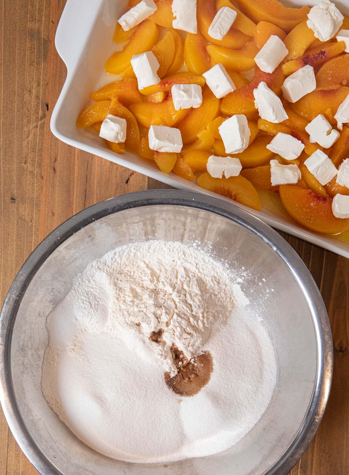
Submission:
M 253 185 L 246 178 L 238 175 L 229 178 L 213 178 L 209 173 L 203 173 L 197 179 L 197 184 L 205 190 L 214 191 L 230 199 L 235 199 L 242 205 L 253 209 L 261 209 L 261 201 Z

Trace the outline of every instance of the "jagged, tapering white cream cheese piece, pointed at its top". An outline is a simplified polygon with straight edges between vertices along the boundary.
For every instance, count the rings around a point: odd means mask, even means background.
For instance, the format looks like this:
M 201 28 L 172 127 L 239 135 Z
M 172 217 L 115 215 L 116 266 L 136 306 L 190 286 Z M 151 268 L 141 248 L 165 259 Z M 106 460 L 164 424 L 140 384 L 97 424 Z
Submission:
M 256 89 L 253 89 L 254 105 L 258 109 L 262 119 L 269 122 L 280 123 L 289 118 L 283 108 L 280 97 L 278 97 L 265 82 L 259 83 Z

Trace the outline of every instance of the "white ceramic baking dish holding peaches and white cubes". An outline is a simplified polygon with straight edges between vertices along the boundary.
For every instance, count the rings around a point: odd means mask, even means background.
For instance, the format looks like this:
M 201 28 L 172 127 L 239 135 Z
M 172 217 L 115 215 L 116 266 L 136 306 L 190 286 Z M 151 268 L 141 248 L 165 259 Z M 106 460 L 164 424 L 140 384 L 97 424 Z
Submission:
M 301 5 L 296 0 L 294 4 Z M 308 3 L 308 2 L 307 2 Z M 311 3 L 317 3 L 313 0 Z M 348 1 L 338 3 L 344 14 L 349 13 Z M 182 190 L 198 191 L 236 204 L 235 201 L 200 188 L 196 183 L 184 180 L 174 173 L 161 172 L 150 161 L 131 153 L 116 154 L 111 152 L 105 141 L 93 130 L 79 129 L 76 120 L 81 110 L 90 103 L 89 94 L 101 85 L 114 79 L 113 75 L 104 73 L 107 57 L 116 50 L 112 41 L 116 20 L 125 10 L 126 0 L 68 0 L 58 24 L 55 44 L 59 56 L 67 66 L 67 79 L 59 95 L 51 117 L 51 131 L 63 142 L 81 150 L 99 155 L 132 170 L 138 171 L 167 185 Z M 198 195 L 197 199 L 200 199 Z M 313 244 L 329 249 L 341 256 L 349 257 L 349 244 L 336 239 L 308 231 L 285 215 L 262 209 L 255 211 L 241 204 L 257 218 L 301 237 Z

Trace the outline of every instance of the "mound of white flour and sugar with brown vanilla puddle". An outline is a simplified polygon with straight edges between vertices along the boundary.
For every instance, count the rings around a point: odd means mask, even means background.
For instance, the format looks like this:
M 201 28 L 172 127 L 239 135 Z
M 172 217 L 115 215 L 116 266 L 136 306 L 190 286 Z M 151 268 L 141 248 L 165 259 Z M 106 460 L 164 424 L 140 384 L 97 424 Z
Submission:
M 152 240 L 92 261 L 48 314 L 42 392 L 89 447 L 156 463 L 235 445 L 276 381 L 271 340 L 227 268 Z

